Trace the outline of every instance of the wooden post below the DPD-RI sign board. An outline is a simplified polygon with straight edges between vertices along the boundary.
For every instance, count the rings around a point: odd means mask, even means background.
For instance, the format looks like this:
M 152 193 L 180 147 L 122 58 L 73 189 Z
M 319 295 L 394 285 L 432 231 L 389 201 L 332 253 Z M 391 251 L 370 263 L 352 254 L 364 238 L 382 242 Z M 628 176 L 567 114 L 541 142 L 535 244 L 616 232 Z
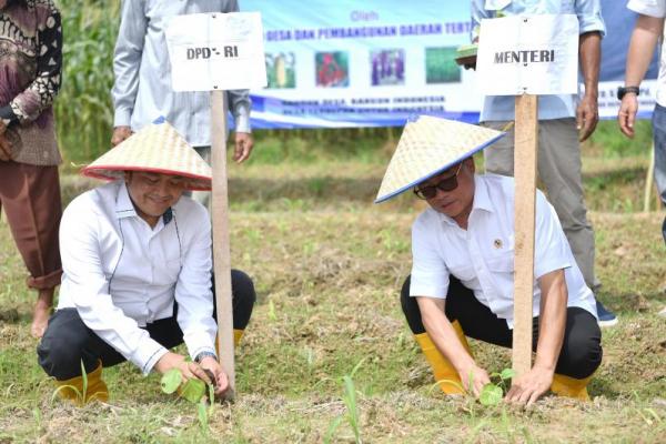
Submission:
M 218 356 L 229 377 L 226 397 L 235 393 L 233 312 L 231 303 L 231 253 L 229 239 L 229 193 L 226 181 L 226 93 L 211 92 L 211 167 L 213 170 L 212 223 L 213 270 L 218 313 Z

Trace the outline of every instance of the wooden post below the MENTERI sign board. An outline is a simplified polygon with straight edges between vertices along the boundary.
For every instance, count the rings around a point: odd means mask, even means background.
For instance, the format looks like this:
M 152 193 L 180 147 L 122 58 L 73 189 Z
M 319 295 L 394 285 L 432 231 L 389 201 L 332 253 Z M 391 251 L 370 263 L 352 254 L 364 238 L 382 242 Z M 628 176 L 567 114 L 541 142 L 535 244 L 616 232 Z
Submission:
M 538 97 L 516 95 L 514 139 L 515 260 L 513 370 L 532 369 L 532 304 L 534 291 L 534 230 Z

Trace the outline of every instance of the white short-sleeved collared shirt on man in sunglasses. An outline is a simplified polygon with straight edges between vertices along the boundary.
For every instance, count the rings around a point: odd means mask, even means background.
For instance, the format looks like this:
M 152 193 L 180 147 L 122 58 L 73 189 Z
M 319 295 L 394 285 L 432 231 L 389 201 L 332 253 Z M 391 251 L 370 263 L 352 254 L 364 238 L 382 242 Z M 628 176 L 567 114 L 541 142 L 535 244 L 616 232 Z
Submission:
M 475 175 L 474 204 L 467 230 L 432 208 L 412 225 L 412 296 L 445 299 L 454 275 L 476 299 L 513 329 L 514 180 Z M 553 206 L 536 193 L 533 315 L 539 315 L 537 279 L 564 269 L 567 306 L 596 316 L 596 302 L 576 265 Z

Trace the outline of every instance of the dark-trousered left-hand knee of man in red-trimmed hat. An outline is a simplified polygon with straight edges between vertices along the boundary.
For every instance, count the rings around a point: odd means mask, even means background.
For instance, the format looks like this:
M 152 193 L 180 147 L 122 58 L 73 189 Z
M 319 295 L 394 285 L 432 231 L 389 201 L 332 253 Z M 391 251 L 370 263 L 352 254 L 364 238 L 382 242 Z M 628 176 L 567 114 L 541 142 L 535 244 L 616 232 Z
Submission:
M 89 339 L 75 309 L 57 311 L 37 347 L 38 362 L 49 376 L 69 380 L 81 375 L 81 360 Z M 87 372 L 92 369 L 85 369 Z

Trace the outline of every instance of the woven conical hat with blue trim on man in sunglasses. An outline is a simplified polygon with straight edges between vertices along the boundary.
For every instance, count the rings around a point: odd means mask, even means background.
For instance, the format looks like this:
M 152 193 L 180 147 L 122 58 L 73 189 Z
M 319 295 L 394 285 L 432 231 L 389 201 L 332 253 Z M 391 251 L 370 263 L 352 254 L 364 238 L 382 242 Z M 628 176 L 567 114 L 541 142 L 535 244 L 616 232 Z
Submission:
M 437 175 L 505 133 L 453 120 L 421 115 L 407 122 L 389 163 L 375 203 Z

